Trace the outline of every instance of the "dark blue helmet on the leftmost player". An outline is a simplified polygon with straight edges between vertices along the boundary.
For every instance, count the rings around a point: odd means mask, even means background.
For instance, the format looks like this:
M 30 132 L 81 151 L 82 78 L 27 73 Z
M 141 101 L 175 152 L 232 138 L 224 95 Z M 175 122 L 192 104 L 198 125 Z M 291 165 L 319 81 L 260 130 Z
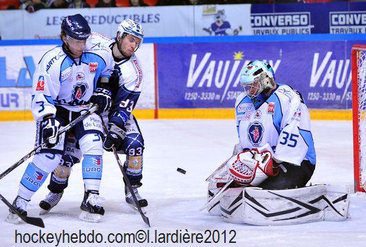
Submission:
M 61 24 L 61 30 L 77 40 L 86 40 L 90 35 L 89 24 L 81 14 L 66 16 Z

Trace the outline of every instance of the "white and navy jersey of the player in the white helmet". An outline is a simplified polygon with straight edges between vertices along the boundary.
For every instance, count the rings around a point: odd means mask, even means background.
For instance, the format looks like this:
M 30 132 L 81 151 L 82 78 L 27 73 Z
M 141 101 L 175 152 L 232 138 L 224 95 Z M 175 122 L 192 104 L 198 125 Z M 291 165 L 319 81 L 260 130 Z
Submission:
M 109 122 L 122 128 L 136 107 L 142 89 L 142 67 L 135 54 L 116 62 L 109 84 L 114 99 Z

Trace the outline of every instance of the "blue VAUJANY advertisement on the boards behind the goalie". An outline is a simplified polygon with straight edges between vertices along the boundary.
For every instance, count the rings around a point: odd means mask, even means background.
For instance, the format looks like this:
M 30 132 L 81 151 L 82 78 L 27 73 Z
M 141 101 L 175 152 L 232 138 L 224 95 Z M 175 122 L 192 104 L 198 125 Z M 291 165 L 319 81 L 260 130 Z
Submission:
M 357 41 L 158 44 L 160 108 L 233 108 L 241 69 L 266 60 L 276 82 L 309 108 L 352 108 L 350 51 Z

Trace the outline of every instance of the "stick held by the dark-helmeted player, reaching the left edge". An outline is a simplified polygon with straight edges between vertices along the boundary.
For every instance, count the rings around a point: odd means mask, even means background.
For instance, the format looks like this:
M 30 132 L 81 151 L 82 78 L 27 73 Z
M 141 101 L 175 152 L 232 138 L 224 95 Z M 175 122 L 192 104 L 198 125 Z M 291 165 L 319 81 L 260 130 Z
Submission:
M 61 134 L 63 134 L 67 130 L 69 130 L 70 128 L 74 127 L 79 121 L 85 119 L 85 117 L 87 117 L 88 115 L 94 113 L 97 109 L 98 109 L 98 105 L 94 104 L 91 108 L 89 108 L 89 110 L 87 110 L 85 113 L 83 113 L 82 115 L 80 115 L 79 117 L 74 119 L 74 121 L 69 123 L 62 130 L 60 130 L 58 132 L 57 136 L 60 136 Z M 8 169 L 6 169 L 5 172 L 0 174 L 0 179 L 2 179 L 4 176 L 8 175 L 10 172 L 12 172 L 13 169 L 19 167 L 19 165 L 21 165 L 24 161 L 28 160 L 28 158 L 32 157 L 34 154 L 36 154 L 36 152 L 39 152 L 39 150 L 41 150 L 43 148 L 46 148 L 46 143 L 45 142 L 39 144 L 38 146 L 36 146 L 36 148 L 34 148 L 34 150 L 30 151 L 28 154 L 25 154 L 25 156 L 23 158 L 21 158 L 19 161 L 14 163 L 14 165 L 9 167 Z

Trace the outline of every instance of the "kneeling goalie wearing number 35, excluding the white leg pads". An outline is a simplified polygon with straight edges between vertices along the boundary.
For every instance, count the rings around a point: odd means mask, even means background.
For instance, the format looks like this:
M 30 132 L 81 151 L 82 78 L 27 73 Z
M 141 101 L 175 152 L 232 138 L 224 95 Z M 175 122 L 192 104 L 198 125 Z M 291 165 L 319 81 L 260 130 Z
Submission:
M 239 143 L 232 158 L 208 178 L 208 200 L 228 181 L 263 189 L 305 187 L 316 154 L 303 97 L 276 83 L 270 64 L 259 60 L 244 67 L 240 83 L 244 93 L 235 103 Z

